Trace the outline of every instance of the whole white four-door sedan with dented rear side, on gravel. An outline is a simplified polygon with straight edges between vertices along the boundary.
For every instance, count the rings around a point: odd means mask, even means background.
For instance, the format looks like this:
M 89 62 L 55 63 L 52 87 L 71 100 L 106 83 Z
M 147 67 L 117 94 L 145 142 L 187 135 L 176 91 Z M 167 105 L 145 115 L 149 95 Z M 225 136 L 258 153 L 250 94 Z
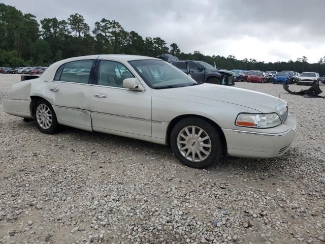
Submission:
M 34 118 L 43 133 L 58 125 L 170 144 L 190 167 L 222 154 L 273 158 L 296 135 L 285 101 L 229 86 L 200 84 L 169 63 L 134 55 L 61 60 L 37 79 L 13 85 L 7 113 Z

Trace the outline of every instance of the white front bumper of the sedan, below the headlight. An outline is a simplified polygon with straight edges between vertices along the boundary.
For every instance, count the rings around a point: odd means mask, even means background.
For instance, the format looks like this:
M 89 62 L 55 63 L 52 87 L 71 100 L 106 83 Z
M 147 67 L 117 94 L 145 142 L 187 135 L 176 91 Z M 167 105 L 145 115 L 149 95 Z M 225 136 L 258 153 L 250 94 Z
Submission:
M 222 129 L 228 155 L 242 158 L 275 158 L 283 155 L 296 136 L 296 118 L 288 115 L 285 124 L 258 132 Z

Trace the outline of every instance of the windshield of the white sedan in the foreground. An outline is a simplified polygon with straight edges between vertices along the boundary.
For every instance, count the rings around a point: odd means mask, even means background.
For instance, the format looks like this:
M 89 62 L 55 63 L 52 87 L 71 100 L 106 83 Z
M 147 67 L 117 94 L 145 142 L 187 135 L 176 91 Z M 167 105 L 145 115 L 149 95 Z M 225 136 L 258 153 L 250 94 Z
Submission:
M 141 78 L 154 89 L 175 88 L 197 84 L 191 77 L 163 60 L 128 62 Z

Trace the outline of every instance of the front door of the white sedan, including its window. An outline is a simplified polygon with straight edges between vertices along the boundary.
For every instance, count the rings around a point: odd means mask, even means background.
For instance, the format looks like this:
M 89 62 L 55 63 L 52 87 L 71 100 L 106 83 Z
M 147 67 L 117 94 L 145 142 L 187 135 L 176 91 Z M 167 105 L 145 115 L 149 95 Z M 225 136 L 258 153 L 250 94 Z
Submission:
M 123 88 L 123 80 L 135 76 L 119 62 L 100 60 L 95 73 L 90 92 L 93 131 L 150 141 L 151 91 Z

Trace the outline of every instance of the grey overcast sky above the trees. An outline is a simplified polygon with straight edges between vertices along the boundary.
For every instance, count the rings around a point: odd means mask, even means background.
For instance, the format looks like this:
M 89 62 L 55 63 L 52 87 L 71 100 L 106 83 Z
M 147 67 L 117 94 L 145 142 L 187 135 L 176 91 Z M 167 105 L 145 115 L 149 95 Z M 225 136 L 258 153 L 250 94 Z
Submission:
M 38 20 L 102 18 L 142 37 L 175 42 L 183 52 L 265 62 L 325 55 L 325 0 L 2 0 Z

